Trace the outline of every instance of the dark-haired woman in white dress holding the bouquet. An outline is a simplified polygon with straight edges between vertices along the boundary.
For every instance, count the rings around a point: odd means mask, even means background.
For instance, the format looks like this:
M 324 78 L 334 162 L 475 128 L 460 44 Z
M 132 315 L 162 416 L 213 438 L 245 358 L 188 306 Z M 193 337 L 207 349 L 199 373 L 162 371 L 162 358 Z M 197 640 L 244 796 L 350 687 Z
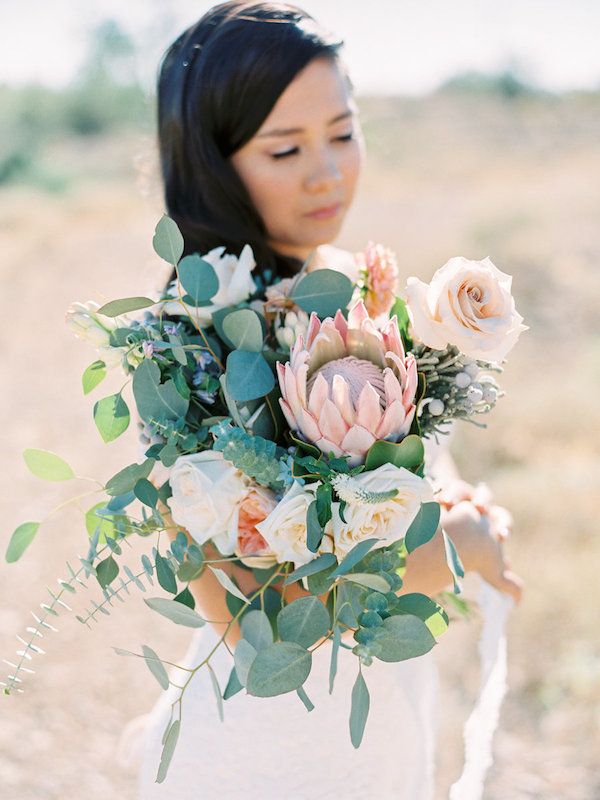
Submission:
M 363 159 L 356 106 L 341 42 L 286 4 L 235 2 L 213 8 L 169 48 L 159 77 L 159 140 L 168 213 L 187 252 L 249 243 L 264 282 L 309 268 L 345 268 L 348 254 L 329 243 L 352 202 Z M 430 474 L 456 477 L 447 454 Z M 491 516 L 455 481 L 444 524 L 467 569 L 518 598 Z M 229 566 L 243 591 L 252 574 Z M 208 574 L 207 574 L 208 573 Z M 403 592 L 446 587 L 441 536 L 411 555 Z M 203 616 L 184 665 L 207 654 L 230 618 L 224 590 L 206 571 L 191 586 Z M 298 584 L 294 591 L 302 594 Z M 288 594 L 288 597 L 290 595 Z M 291 597 L 290 597 L 291 599 Z M 239 627 L 227 642 L 235 645 Z M 225 685 L 231 658 L 221 648 L 215 671 Z M 269 701 L 240 693 L 218 720 L 213 688 L 200 671 L 186 693 L 180 740 L 165 783 L 154 783 L 160 739 L 174 696 L 163 695 L 147 728 L 141 797 L 406 798 L 432 794 L 435 669 L 430 656 L 366 670 L 371 715 L 359 750 L 347 732 L 355 679 L 340 658 L 329 695 L 328 645 L 315 651 L 307 714 L 295 694 Z M 343 655 L 347 655 L 342 653 Z M 212 661 L 211 661 L 212 663 Z M 174 683 L 181 675 L 172 676 Z

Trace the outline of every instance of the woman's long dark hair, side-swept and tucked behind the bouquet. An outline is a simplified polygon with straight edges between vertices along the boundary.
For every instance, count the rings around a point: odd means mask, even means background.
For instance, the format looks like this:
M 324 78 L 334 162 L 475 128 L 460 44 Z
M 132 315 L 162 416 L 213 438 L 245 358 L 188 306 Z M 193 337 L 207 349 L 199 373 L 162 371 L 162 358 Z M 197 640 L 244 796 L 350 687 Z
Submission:
M 259 268 L 283 277 L 294 259 L 274 253 L 229 157 L 254 136 L 293 78 L 342 41 L 296 6 L 220 3 L 179 36 L 158 78 L 158 138 L 168 214 L 185 253 L 251 245 Z M 174 277 L 174 275 L 173 275 Z

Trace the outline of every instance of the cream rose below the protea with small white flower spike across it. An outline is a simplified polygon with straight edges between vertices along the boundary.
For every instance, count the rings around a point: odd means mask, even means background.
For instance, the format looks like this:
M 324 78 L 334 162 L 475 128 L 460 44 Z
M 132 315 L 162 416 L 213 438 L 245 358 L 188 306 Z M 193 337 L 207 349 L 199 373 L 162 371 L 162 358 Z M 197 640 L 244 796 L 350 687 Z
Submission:
M 345 522 L 339 513 L 339 503 L 333 504 L 333 542 L 338 560 L 364 539 L 381 539 L 376 547 L 402 539 L 421 503 L 433 501 L 433 490 L 426 480 L 393 464 L 382 464 L 354 477 L 340 476 L 335 488 L 340 499 L 347 503 Z M 374 499 L 369 497 L 372 493 L 393 489 L 396 490 L 394 497 L 369 502 Z

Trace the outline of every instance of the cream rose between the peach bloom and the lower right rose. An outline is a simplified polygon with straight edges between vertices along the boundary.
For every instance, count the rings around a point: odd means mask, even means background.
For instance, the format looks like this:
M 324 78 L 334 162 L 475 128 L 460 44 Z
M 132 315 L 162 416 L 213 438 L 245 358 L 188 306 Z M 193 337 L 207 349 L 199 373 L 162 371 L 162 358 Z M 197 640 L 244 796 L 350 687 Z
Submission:
M 317 553 L 312 553 L 306 546 L 306 512 L 315 499 L 317 485 L 302 486 L 294 481 L 269 516 L 256 526 L 279 564 L 293 561 L 294 566 L 299 567 L 322 552 L 331 552 L 331 542 L 327 535 L 323 537 Z

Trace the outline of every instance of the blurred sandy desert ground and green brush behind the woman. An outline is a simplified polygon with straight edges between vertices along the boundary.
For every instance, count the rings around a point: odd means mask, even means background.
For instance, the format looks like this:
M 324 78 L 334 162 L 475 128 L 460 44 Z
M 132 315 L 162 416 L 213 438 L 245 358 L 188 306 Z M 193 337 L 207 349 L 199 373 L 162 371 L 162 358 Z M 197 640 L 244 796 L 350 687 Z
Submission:
M 97 32 L 87 69 L 66 89 L 0 87 L 2 551 L 18 524 L 93 488 L 37 480 L 24 448 L 57 452 L 102 481 L 135 460 L 135 430 L 104 445 L 92 420 L 95 400 L 123 376 L 84 397 L 80 376 L 95 354 L 63 322 L 73 300 L 151 293 L 166 278 L 151 247 L 163 212 L 154 100 L 135 81 L 111 78 L 107 65 L 127 44 L 117 34 L 110 24 Z M 459 425 L 452 445 L 464 477 L 487 481 L 513 512 L 509 557 L 526 581 L 510 622 L 510 689 L 485 797 L 598 800 L 600 91 L 550 93 L 507 70 L 359 105 L 367 167 L 338 244 L 384 242 L 403 275 L 423 279 L 453 255 L 490 256 L 514 276 L 530 326 L 488 430 Z M 2 560 L 0 658 L 14 658 L 44 586 L 84 555 L 81 511 L 97 498 L 52 515 L 17 564 Z M 135 566 L 147 548 L 134 543 L 126 562 Z M 60 632 L 40 640 L 37 674 L 22 695 L 2 699 L 5 800 L 135 797 L 119 736 L 160 690 L 141 661 L 111 647 L 145 643 L 176 659 L 189 636 L 142 597 L 132 590 L 93 631 L 64 612 Z M 93 581 L 68 602 L 80 613 L 90 598 L 101 598 Z M 478 630 L 477 619 L 458 620 L 437 648 L 440 800 L 460 769 Z

